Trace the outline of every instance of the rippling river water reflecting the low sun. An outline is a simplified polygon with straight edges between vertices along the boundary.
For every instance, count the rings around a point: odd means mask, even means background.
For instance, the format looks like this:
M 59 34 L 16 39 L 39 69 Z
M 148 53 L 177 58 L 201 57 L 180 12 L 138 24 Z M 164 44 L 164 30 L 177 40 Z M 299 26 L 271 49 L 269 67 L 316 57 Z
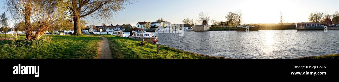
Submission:
M 292 59 L 339 53 L 339 30 L 204 31 L 158 34 L 158 44 L 240 59 Z

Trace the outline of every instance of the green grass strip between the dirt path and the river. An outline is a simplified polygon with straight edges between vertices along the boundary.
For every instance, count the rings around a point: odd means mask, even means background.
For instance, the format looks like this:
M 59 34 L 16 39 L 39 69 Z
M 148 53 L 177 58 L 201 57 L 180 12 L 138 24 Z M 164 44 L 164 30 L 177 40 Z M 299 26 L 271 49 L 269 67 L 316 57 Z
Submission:
M 171 47 L 160 45 L 160 54 L 157 53 L 157 45 L 147 43 L 140 46 L 141 41 L 116 37 L 113 35 L 98 35 L 107 37 L 112 54 L 116 59 L 211 59 L 214 57 L 202 56 Z

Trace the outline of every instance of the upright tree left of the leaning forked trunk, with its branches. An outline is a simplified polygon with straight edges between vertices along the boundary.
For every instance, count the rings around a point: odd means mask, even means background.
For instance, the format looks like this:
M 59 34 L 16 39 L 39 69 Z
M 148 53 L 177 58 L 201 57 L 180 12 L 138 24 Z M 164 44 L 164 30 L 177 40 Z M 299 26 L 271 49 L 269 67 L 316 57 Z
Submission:
M 25 20 L 26 40 L 31 40 L 33 28 L 31 25 L 31 16 L 36 9 L 37 3 L 41 0 L 8 0 L 5 2 L 7 11 L 11 12 L 13 20 Z

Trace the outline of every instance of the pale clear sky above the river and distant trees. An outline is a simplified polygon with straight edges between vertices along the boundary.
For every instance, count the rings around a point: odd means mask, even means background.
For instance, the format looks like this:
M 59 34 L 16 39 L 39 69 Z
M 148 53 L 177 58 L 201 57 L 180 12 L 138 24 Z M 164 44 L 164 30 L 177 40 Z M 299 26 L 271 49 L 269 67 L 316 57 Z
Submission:
M 0 13 L 6 10 L 2 7 Z M 244 23 L 279 23 L 280 12 L 283 13 L 285 23 L 308 22 L 308 16 L 316 11 L 333 14 L 339 11 L 339 0 L 138 0 L 126 4 L 125 9 L 118 12 L 113 20 L 87 17 L 88 25 L 100 26 L 131 24 L 138 22 L 154 22 L 158 18 L 172 24 L 182 24 L 185 18 L 194 19 L 198 23 L 198 14 L 207 12 L 210 16 L 209 24 L 214 18 L 217 21 L 226 21 L 228 12 L 243 13 Z M 10 14 L 7 12 L 7 16 Z M 13 23 L 9 23 L 13 27 Z

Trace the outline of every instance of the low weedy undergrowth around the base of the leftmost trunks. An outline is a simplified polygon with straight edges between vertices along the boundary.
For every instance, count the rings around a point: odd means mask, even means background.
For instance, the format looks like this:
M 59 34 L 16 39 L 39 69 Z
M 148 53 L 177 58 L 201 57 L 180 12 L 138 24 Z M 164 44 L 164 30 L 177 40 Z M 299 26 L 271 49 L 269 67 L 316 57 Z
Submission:
M 48 45 L 50 41 L 40 39 L 40 40 L 13 40 L 11 43 L 8 43 L 8 46 L 15 47 L 39 47 Z

